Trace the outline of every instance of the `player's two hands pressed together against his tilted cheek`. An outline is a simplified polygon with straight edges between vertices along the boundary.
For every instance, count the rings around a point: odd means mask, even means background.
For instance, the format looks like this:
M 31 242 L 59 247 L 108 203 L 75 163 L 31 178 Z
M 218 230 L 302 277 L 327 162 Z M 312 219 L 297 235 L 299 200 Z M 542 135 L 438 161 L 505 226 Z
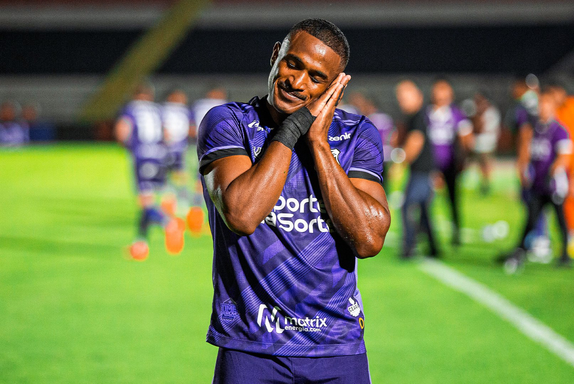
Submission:
M 343 97 L 343 91 L 349 80 L 351 80 L 351 75 L 345 75 L 344 72 L 339 73 L 327 91 L 307 106 L 311 114 L 316 117 L 315 122 L 307 132 L 308 140 L 327 139 L 327 131 L 331 126 L 335 108 Z

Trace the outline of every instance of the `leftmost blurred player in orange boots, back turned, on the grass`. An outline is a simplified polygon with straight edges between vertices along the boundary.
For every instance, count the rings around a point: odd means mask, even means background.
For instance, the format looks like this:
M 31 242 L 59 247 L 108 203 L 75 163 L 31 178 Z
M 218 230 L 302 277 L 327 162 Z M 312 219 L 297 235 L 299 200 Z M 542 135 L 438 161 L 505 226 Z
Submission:
M 170 218 L 158 206 L 158 198 L 165 185 L 166 146 L 161 123 L 160 106 L 153 102 L 151 86 L 138 86 L 133 100 L 127 103 L 115 123 L 115 134 L 130 151 L 134 164 L 138 203 L 138 235 L 130 246 L 131 257 L 148 257 L 148 233 L 152 224 L 165 228 L 165 245 L 170 253 L 183 249 L 185 223 Z

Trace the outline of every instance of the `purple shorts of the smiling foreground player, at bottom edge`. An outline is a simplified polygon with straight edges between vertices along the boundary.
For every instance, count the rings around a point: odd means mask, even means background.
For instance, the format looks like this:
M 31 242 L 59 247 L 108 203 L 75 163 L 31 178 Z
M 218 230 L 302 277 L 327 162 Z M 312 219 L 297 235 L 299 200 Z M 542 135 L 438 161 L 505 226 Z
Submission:
M 290 358 L 219 348 L 213 384 L 370 384 L 367 354 Z

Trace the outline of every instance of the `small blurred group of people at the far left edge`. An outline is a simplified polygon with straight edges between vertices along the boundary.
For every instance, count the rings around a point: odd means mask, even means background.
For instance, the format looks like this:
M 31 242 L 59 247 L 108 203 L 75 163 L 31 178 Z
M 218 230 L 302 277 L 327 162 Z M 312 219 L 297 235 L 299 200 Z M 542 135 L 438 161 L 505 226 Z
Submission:
M 35 103 L 20 106 L 7 100 L 0 104 L 0 146 L 18 147 L 30 141 L 55 139 L 55 127 L 38 118 L 39 112 Z

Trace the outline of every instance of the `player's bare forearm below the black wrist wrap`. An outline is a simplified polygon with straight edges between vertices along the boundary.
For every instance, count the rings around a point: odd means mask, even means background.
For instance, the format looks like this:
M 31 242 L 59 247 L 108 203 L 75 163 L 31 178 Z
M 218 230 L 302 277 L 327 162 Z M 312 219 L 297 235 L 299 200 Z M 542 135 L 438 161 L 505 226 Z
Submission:
M 292 150 L 273 141 L 261 160 L 236 177 L 222 193 L 222 213 L 228 227 L 250 235 L 273 210 L 287 179 Z

